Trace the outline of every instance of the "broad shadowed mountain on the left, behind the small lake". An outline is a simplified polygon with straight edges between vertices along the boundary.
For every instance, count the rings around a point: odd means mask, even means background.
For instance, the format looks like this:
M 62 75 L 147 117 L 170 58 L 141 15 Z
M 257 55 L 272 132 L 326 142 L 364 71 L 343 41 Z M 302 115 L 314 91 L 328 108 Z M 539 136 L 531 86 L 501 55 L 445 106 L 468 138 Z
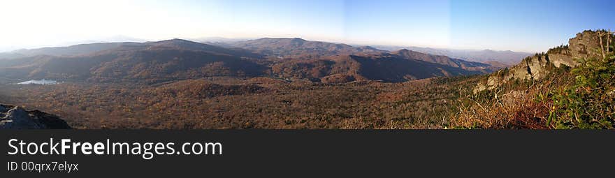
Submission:
M 265 67 L 249 59 L 253 55 L 186 40 L 165 40 L 124 44 L 71 57 L 11 59 L 10 64 L 0 66 L 0 74 L 9 78 L 101 81 L 262 75 Z

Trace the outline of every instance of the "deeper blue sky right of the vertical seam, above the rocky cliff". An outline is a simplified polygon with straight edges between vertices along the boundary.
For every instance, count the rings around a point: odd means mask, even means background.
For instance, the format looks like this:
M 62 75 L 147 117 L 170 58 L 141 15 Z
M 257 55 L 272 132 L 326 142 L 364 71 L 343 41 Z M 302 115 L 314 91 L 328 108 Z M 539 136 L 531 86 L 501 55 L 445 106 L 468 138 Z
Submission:
M 586 29 L 615 29 L 615 2 L 451 1 L 451 45 L 545 51 Z

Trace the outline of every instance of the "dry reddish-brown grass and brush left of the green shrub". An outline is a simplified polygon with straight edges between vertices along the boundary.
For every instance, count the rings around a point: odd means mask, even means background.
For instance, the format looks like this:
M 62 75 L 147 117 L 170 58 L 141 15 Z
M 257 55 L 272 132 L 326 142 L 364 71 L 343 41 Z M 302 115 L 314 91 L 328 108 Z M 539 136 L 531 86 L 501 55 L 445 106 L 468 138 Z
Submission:
M 542 81 L 509 82 L 491 91 L 473 93 L 460 90 L 456 112 L 451 115 L 451 126 L 456 128 L 554 128 L 547 124 L 554 103 L 548 97 L 551 91 L 570 84 L 569 72 L 554 73 Z

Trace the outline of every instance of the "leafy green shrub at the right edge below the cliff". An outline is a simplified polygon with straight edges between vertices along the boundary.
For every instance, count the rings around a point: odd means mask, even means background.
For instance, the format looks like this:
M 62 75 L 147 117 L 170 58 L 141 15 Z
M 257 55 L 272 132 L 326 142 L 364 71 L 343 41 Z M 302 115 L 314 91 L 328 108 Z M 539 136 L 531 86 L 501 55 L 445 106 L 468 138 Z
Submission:
M 615 56 L 577 59 L 574 84 L 556 89 L 547 124 L 555 128 L 613 128 Z

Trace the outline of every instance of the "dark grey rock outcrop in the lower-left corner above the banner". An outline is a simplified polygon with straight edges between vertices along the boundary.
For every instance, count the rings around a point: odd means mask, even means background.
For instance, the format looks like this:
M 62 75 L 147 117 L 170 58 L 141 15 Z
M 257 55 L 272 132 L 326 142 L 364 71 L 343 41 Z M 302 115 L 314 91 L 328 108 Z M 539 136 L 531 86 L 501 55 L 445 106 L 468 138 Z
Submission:
M 14 129 L 69 129 L 71 126 L 59 117 L 38 110 L 0 105 L 0 128 Z

